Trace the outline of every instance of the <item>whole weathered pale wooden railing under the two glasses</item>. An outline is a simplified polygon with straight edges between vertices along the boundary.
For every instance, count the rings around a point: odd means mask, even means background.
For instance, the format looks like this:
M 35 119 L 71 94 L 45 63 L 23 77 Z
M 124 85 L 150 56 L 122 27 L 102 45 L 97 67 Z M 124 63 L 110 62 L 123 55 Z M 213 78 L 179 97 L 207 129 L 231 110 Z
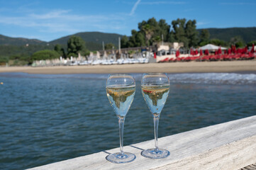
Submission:
M 165 159 L 140 155 L 153 146 L 150 140 L 124 147 L 137 157 L 128 164 L 106 161 L 108 153 L 119 151 L 115 148 L 33 169 L 241 169 L 256 162 L 256 116 L 162 137 L 160 148 L 171 153 Z

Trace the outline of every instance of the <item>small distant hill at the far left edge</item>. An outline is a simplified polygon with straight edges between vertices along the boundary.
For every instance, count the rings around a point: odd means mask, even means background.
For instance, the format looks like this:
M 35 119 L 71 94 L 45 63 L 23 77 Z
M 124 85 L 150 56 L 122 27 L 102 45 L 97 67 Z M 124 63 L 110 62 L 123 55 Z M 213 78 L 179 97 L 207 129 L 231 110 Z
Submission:
M 0 34 L 0 45 L 46 45 L 47 42 L 36 40 L 36 39 L 28 39 L 28 38 L 10 38 Z

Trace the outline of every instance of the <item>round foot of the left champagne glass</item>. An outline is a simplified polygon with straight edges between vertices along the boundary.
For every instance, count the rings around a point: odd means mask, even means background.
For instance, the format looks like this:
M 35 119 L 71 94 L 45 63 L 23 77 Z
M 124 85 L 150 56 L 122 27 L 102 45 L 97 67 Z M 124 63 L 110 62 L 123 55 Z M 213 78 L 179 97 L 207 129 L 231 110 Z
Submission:
M 109 154 L 106 159 L 109 162 L 115 163 L 115 164 L 122 164 L 122 163 L 128 163 L 133 162 L 135 160 L 136 156 L 129 152 L 124 152 L 121 154 L 120 152 Z

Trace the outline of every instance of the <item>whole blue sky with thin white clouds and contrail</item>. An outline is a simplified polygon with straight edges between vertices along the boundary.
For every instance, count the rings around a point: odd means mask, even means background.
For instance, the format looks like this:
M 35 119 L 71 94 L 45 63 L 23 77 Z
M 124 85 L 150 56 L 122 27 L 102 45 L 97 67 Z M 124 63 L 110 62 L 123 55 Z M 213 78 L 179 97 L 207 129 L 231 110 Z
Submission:
M 148 18 L 195 19 L 197 28 L 256 26 L 255 0 L 0 0 L 0 34 L 55 40 L 84 31 L 130 35 Z

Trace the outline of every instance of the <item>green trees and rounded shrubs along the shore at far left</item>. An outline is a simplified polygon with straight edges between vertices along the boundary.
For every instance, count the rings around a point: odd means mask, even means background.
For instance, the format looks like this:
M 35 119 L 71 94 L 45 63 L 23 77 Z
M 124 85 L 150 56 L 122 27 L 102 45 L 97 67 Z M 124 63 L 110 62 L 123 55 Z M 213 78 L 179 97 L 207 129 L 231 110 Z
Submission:
M 115 47 L 112 43 L 107 43 L 105 49 Z M 9 63 L 10 65 L 30 65 L 35 60 L 52 60 L 60 57 L 77 57 L 89 55 L 86 43 L 79 36 L 71 36 L 67 40 L 67 45 L 0 45 L 0 65 Z M 9 54 L 8 56 L 6 54 Z

